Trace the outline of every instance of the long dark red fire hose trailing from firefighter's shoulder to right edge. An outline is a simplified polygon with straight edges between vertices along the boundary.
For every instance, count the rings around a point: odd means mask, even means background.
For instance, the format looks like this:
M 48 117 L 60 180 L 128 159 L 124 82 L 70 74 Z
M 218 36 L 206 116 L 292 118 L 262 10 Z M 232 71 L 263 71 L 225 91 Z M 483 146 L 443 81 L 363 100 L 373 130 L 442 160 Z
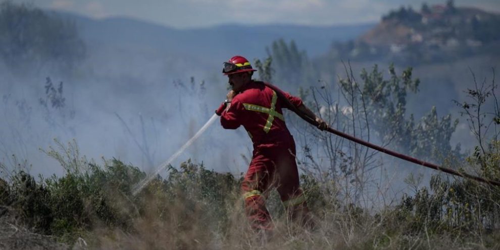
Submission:
M 293 111 L 295 114 L 297 114 L 299 117 L 301 117 L 302 119 L 304 119 L 306 122 L 310 123 L 311 125 L 313 125 L 315 127 L 318 127 L 319 123 L 316 122 L 315 119 L 313 119 L 313 118 L 307 116 L 306 114 L 304 114 L 303 112 L 299 111 L 293 104 L 290 103 L 290 101 L 288 100 L 288 98 L 286 98 L 283 95 L 283 93 L 281 92 L 280 89 L 278 89 L 277 87 L 275 87 L 275 86 L 273 86 L 273 85 L 271 85 L 269 83 L 264 83 L 264 84 L 266 86 L 268 86 L 269 88 L 273 89 L 276 92 L 276 94 L 278 95 L 278 98 L 280 98 L 282 101 L 285 102 L 286 108 L 288 108 L 289 110 Z M 438 165 L 433 164 L 433 163 L 425 162 L 425 161 L 422 161 L 422 160 L 419 160 L 419 159 L 416 159 L 416 158 L 413 158 L 413 157 L 410 157 L 410 156 L 407 156 L 407 155 L 404 155 L 404 154 L 401 154 L 401 153 L 397 153 L 395 151 L 391 151 L 391 150 L 389 150 L 387 148 L 375 145 L 375 144 L 370 143 L 368 141 L 364 141 L 364 140 L 356 138 L 356 137 L 354 137 L 352 135 L 349 135 L 349 134 L 340 132 L 338 130 L 335 130 L 335 129 L 331 128 L 331 127 L 326 128 L 325 131 L 328 131 L 328 132 L 330 132 L 332 134 L 338 135 L 338 136 L 343 137 L 345 139 L 354 141 L 356 143 L 362 144 L 364 146 L 370 147 L 372 149 L 375 149 L 376 151 L 385 153 L 387 155 L 390 155 L 390 156 L 393 156 L 393 157 L 396 157 L 396 158 L 399 158 L 399 159 L 402 159 L 402 160 L 405 160 L 405 161 L 408 161 L 408 162 L 412 162 L 412 163 L 415 163 L 415 164 L 418 164 L 418 165 L 421 165 L 421 166 L 424 166 L 424 167 L 427 167 L 427 168 L 435 169 L 435 170 L 438 170 L 438 171 L 441 171 L 441 172 L 445 172 L 445 173 L 452 174 L 452 175 L 459 176 L 459 177 L 463 177 L 463 178 L 468 178 L 468 179 L 476 180 L 476 181 L 483 182 L 483 183 L 486 183 L 486 184 L 489 184 L 489 185 L 500 186 L 500 181 L 484 179 L 484 178 L 481 178 L 479 176 L 474 176 L 474 175 L 463 173 L 463 172 L 459 172 L 459 171 L 456 171 L 456 170 L 453 170 L 453 169 L 444 168 L 444 167 L 438 166 Z

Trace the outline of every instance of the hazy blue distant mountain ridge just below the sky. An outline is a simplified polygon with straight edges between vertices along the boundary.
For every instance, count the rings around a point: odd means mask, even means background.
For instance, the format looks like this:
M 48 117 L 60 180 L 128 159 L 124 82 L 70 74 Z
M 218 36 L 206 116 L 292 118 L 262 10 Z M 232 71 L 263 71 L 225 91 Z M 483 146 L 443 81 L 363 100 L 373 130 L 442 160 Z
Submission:
M 228 57 L 233 54 L 257 58 L 279 38 L 295 40 L 310 56 L 325 53 L 333 41 L 355 39 L 374 23 L 337 26 L 219 25 L 210 28 L 175 29 L 131 18 L 95 20 L 75 14 L 53 12 L 72 19 L 88 43 L 152 47 L 185 56 Z

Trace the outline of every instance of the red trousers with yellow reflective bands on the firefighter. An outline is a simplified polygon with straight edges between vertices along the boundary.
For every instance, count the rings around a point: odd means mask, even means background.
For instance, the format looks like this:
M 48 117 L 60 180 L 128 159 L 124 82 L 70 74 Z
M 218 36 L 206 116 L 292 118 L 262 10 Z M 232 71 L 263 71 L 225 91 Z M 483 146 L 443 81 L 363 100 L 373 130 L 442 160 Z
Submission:
M 307 213 L 306 199 L 299 186 L 295 142 L 291 136 L 277 143 L 254 147 L 252 162 L 241 184 L 245 213 L 254 229 L 273 227 L 265 206 L 265 196 L 272 187 L 277 189 L 291 219 L 302 218 Z

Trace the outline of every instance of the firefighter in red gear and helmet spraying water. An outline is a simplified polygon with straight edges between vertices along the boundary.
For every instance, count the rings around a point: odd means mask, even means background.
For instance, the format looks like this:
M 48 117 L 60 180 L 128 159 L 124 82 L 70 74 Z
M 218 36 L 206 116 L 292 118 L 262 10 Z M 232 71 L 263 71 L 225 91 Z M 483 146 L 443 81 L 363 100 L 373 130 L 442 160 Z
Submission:
M 241 184 L 245 213 L 252 228 L 272 229 L 264 198 L 267 191 L 275 187 L 288 216 L 300 223 L 308 223 L 306 198 L 299 187 L 295 142 L 282 113 L 286 104 L 278 98 L 276 91 L 280 91 L 299 111 L 314 118 L 319 129 L 324 130 L 328 125 L 304 106 L 299 97 L 252 80 L 255 71 L 241 56 L 234 56 L 224 63 L 222 72 L 228 76 L 232 89 L 216 111 L 223 128 L 243 126 L 254 145 L 252 161 Z

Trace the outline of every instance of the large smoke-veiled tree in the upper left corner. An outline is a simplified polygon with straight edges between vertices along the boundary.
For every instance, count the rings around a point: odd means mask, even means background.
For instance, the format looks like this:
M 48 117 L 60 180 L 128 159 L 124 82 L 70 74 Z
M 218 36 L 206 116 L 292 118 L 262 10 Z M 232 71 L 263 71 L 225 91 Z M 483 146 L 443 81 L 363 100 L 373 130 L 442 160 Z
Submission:
M 0 57 L 12 69 L 47 62 L 71 69 L 84 54 L 74 23 L 26 4 L 0 3 Z

